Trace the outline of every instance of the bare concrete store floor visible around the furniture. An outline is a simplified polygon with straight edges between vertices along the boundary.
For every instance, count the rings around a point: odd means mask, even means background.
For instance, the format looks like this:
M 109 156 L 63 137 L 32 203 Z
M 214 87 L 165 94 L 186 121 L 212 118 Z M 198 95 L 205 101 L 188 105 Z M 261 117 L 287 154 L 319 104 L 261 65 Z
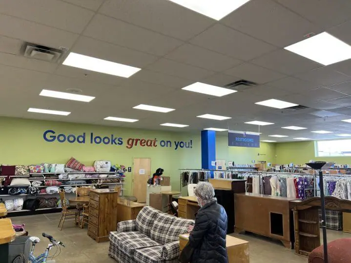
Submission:
M 79 229 L 73 221 L 66 221 L 62 231 L 57 228 L 61 213 L 42 214 L 11 218 L 12 223 L 24 223 L 26 230 L 32 236 L 41 238 L 41 243 L 36 246 L 36 255 L 42 253 L 48 240 L 41 237 L 45 232 L 52 235 L 57 241 L 62 241 L 62 253 L 55 258 L 57 263 L 115 263 L 107 256 L 108 242 L 96 243 L 87 236 L 87 228 Z M 293 250 L 285 248 L 280 242 L 253 234 L 234 234 L 249 242 L 250 263 L 307 263 L 307 258 L 294 254 Z M 328 241 L 339 238 L 351 238 L 351 234 L 342 231 L 328 230 Z M 53 250 L 54 251 L 54 250 Z

